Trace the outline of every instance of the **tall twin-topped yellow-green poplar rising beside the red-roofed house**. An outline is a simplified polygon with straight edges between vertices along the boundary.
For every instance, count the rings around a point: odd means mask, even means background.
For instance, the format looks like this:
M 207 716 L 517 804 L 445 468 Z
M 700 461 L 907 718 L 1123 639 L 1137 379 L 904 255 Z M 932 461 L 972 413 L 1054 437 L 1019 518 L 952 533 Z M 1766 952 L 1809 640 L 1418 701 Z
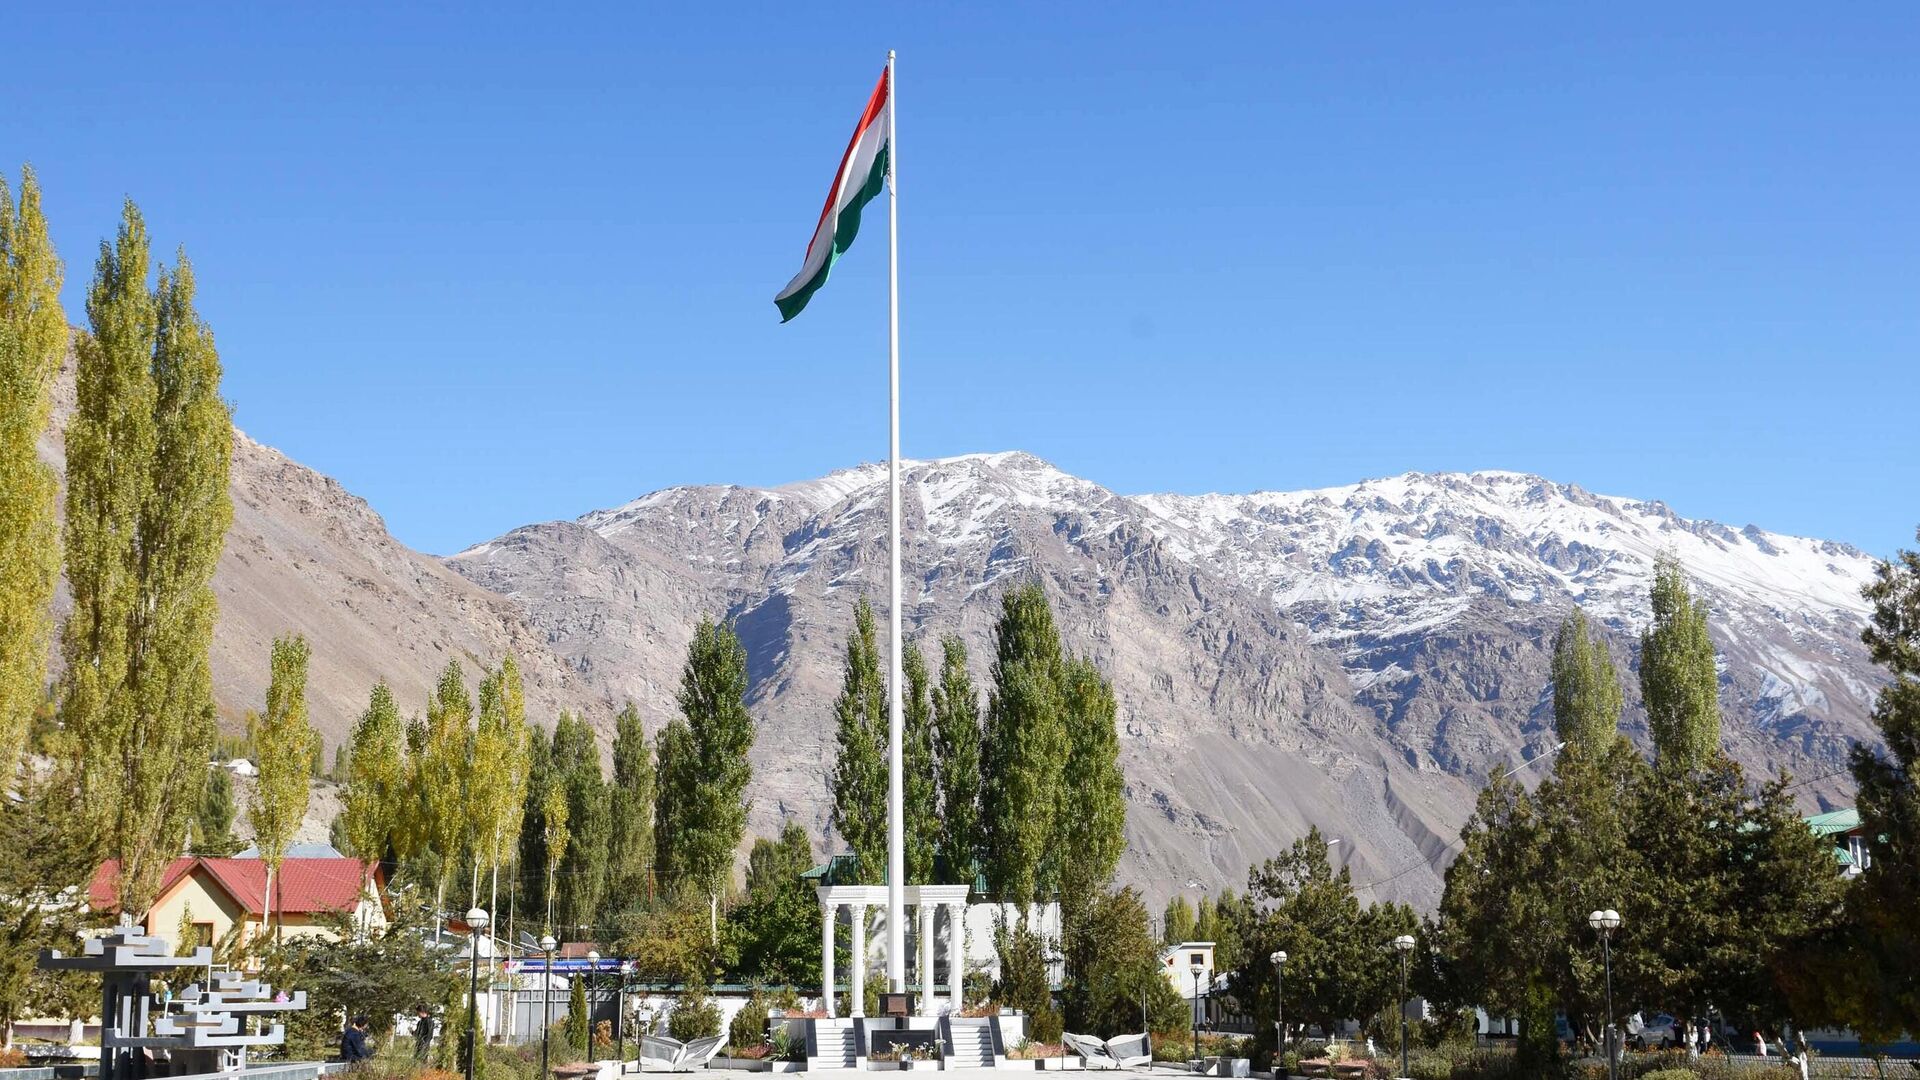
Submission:
M 213 565 L 232 521 L 232 421 L 186 259 L 150 292 L 129 202 L 88 288 L 67 425 L 60 717 L 88 836 L 117 859 L 115 903 L 144 911 L 188 836 L 213 744 Z

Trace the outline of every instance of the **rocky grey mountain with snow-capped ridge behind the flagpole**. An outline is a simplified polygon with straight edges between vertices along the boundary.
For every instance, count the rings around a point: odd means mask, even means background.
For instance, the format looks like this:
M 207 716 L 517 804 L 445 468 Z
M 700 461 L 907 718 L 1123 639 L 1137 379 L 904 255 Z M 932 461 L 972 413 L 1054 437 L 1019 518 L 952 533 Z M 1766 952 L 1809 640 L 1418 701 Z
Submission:
M 699 615 L 735 621 L 760 721 L 755 828 L 826 824 L 829 703 L 854 596 L 885 598 L 885 467 L 780 488 L 685 486 L 449 559 L 651 724 Z M 1713 607 L 1724 740 L 1845 798 L 1878 673 L 1859 646 L 1874 561 L 1843 544 L 1688 521 L 1517 473 L 1315 492 L 1119 496 L 1020 452 L 904 475 L 906 619 L 962 634 L 985 678 L 1012 580 L 1037 577 L 1071 648 L 1114 678 L 1129 776 L 1123 874 L 1164 897 L 1238 886 L 1308 824 L 1356 880 L 1430 901 L 1488 771 L 1551 744 L 1548 642 L 1572 603 L 1622 671 L 1653 557 Z M 1630 728 L 1638 694 L 1626 675 Z

